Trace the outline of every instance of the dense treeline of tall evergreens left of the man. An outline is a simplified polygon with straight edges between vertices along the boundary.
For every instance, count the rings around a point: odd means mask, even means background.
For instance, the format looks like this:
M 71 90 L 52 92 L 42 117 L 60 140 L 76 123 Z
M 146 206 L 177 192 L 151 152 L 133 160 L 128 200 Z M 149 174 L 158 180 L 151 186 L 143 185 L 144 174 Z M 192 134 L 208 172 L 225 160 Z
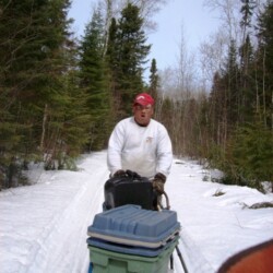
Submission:
M 81 153 L 105 149 L 147 88 L 140 8 L 129 3 L 106 25 L 98 7 L 78 41 L 70 5 L 0 1 L 0 188 L 24 183 L 29 163 L 73 169 Z

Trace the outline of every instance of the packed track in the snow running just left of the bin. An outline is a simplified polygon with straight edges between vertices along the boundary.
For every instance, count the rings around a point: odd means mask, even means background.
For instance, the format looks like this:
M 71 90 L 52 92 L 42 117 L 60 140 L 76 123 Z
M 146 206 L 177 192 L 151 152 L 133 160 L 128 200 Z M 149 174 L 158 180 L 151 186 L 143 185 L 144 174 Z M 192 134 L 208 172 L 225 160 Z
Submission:
M 64 210 L 60 211 L 47 226 L 50 232 L 39 241 L 40 246 L 34 250 L 35 259 L 28 272 L 37 272 L 37 268 L 40 272 L 54 272 L 56 268 L 60 273 L 87 272 L 87 226 L 92 223 L 94 215 L 102 211 L 103 187 L 105 179 L 108 178 L 108 171 L 106 166 L 96 166 L 94 161 L 87 161 L 86 163 L 87 170 L 83 168 L 81 178 L 74 181 L 75 185 L 79 185 L 78 192 Z M 61 180 L 61 178 L 59 179 Z M 66 187 L 66 183 L 62 187 Z M 70 225 L 73 226 L 72 229 L 70 229 Z M 63 237 L 61 241 L 58 241 L 60 235 Z M 55 252 L 55 256 L 45 253 L 44 244 L 48 246 L 46 249 Z M 67 251 L 66 254 L 63 254 L 63 250 Z M 79 256 L 79 253 L 81 254 Z M 45 256 L 48 256 L 48 259 L 45 259 Z M 75 257 L 81 259 L 74 260 Z

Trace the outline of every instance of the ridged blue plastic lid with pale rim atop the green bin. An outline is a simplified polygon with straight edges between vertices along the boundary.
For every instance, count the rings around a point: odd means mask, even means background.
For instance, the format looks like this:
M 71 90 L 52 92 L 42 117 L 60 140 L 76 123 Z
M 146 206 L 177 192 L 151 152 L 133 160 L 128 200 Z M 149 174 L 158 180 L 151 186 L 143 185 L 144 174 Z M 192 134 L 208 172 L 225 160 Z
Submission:
M 106 241 L 156 248 L 179 230 L 175 211 L 157 212 L 128 204 L 96 214 L 87 234 Z

